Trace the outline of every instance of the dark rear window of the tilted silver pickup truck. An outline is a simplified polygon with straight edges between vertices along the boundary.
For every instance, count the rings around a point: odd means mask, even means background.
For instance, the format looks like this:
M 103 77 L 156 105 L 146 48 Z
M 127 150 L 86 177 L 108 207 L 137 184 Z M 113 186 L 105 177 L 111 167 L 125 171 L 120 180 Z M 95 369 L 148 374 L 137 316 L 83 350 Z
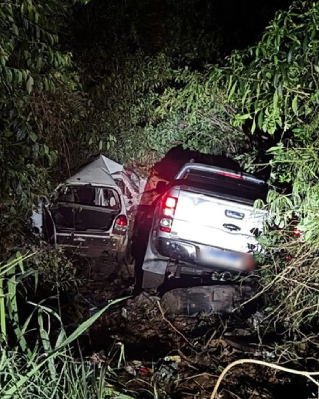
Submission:
M 233 178 L 227 174 L 219 175 L 203 170 L 189 169 L 183 180 L 205 190 L 242 198 L 248 203 L 253 203 L 256 199 L 266 201 L 268 194 L 266 183 L 258 184 L 250 180 Z

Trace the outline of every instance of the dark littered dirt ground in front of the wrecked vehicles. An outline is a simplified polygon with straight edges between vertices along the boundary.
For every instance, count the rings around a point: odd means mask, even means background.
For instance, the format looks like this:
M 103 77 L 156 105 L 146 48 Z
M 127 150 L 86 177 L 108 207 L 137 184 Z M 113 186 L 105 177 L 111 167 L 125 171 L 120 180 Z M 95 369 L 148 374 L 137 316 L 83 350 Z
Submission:
M 138 398 L 210 398 L 221 371 L 232 361 L 272 361 L 272 348 L 260 346 L 252 315 L 199 314 L 168 316 L 153 292 L 134 290 L 134 265 L 114 275 L 107 259 L 90 258 L 87 284 L 75 306 L 89 317 L 112 299 L 112 306 L 93 325 L 83 354 L 114 370 L 116 383 Z M 260 365 L 232 369 L 218 398 L 308 398 L 303 378 Z

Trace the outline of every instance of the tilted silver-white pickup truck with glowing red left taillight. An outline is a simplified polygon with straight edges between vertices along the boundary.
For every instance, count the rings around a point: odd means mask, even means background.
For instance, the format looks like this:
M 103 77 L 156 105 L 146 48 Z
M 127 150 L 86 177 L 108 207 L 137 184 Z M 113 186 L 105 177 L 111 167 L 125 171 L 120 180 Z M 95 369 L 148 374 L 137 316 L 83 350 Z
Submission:
M 143 269 L 143 288 L 156 288 L 166 277 L 242 272 L 256 266 L 256 237 L 265 212 L 268 185 L 254 176 L 188 163 L 173 182 L 159 187 Z

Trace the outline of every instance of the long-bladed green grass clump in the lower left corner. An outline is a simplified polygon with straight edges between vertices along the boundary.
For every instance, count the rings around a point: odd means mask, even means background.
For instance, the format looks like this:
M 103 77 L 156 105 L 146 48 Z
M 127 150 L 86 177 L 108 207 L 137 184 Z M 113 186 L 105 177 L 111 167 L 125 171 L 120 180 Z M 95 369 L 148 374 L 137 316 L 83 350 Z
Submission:
M 91 318 L 85 320 L 67 336 L 61 315 L 45 306 L 42 301 L 32 304 L 34 309 L 20 325 L 17 306 L 18 288 L 21 282 L 36 273 L 24 270 L 26 258 L 18 254 L 6 265 L 0 265 L 0 396 L 10 398 L 61 397 L 61 398 L 122 398 L 130 396 L 120 393 L 108 382 L 112 370 L 106 366 L 95 367 L 92 363 L 73 358 L 71 344 L 110 307 L 123 299 L 118 299 Z M 36 343 L 30 344 L 30 322 L 37 319 Z M 54 323 L 55 338 L 50 332 Z M 8 327 L 13 328 L 16 345 L 8 346 Z M 34 335 L 34 331 L 33 331 Z M 12 339 L 10 340 L 12 342 Z M 19 348 L 20 347 L 20 348 Z M 114 377 L 114 375 L 113 375 Z M 122 389 L 122 391 L 124 391 Z

